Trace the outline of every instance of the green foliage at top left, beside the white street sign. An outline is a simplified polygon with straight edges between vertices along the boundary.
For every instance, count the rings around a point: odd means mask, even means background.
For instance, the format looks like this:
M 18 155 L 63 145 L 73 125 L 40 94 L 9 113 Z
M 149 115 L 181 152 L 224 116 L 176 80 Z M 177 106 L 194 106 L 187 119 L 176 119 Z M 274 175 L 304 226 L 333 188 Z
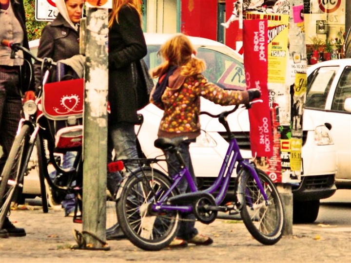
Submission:
M 28 32 L 28 40 L 40 38 L 41 30 L 47 22 L 37 21 L 35 19 L 35 0 L 23 0 L 24 10 L 26 13 L 26 28 Z

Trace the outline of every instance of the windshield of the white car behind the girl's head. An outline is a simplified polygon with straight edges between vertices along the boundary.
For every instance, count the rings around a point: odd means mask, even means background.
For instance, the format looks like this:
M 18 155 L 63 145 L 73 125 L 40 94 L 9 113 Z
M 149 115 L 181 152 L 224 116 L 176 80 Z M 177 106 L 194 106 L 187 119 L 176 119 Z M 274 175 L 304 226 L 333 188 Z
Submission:
M 162 58 L 158 54 L 159 49 L 159 45 L 148 45 L 148 54 L 144 60 L 149 69 L 162 63 Z M 241 62 L 231 56 L 204 47 L 197 48 L 196 56 L 205 60 L 206 71 L 203 75 L 210 82 L 223 89 L 246 89 L 244 66 Z

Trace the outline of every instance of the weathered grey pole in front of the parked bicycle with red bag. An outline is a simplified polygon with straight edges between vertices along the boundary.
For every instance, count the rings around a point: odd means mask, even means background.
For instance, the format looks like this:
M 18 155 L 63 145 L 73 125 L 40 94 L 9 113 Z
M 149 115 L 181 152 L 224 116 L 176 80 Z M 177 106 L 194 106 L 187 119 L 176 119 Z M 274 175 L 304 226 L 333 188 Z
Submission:
M 87 248 L 106 249 L 108 10 L 87 8 L 83 136 L 83 237 Z

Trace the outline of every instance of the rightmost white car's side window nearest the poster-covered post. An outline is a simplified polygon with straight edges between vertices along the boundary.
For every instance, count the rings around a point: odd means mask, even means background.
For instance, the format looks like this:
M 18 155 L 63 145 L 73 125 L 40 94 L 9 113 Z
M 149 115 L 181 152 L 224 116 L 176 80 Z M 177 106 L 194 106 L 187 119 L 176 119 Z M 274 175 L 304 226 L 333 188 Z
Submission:
M 320 67 L 316 69 L 307 79 L 307 95 L 305 107 L 324 109 L 331 83 L 335 77 L 338 67 Z

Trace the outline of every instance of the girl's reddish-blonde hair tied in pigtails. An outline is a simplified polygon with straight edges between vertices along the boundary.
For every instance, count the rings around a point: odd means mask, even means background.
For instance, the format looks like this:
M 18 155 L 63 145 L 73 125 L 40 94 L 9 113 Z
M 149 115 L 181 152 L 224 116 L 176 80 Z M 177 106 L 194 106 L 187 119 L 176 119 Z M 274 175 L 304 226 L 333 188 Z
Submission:
M 160 48 L 159 54 L 165 61 L 152 71 L 153 77 L 163 75 L 170 67 L 180 66 L 180 75 L 188 76 L 206 70 L 205 61 L 195 56 L 196 51 L 189 38 L 184 34 L 176 34 Z

